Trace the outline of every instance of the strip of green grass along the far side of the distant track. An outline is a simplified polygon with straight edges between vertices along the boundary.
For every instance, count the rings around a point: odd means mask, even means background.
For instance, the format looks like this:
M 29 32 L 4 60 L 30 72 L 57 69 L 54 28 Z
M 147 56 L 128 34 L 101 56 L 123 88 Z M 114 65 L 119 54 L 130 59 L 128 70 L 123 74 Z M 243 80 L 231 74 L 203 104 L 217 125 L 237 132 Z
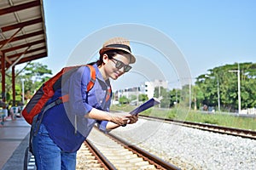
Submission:
M 113 105 L 111 110 L 113 111 L 132 111 L 135 106 L 131 105 Z M 180 121 L 189 122 L 202 122 L 215 124 L 224 127 L 236 127 L 241 129 L 249 129 L 256 131 L 256 118 L 255 117 L 241 117 L 231 116 L 221 113 L 201 113 L 199 111 L 188 111 L 183 108 L 162 110 L 159 108 L 151 108 L 147 111 L 143 111 L 141 114 L 146 116 L 158 116 L 162 118 L 170 118 Z

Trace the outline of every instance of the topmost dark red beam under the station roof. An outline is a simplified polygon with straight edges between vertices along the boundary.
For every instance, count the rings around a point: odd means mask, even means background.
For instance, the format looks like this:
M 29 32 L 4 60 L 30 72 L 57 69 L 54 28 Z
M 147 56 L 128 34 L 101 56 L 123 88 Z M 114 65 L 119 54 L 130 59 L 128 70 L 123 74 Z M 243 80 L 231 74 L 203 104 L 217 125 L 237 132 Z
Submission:
M 13 7 L 9 7 L 9 8 L 2 8 L 2 9 L 0 9 L 0 15 L 14 13 L 14 12 L 17 12 L 19 10 L 36 7 L 36 6 L 39 6 L 39 5 L 40 5 L 40 1 L 36 0 L 36 1 L 32 1 L 30 3 L 23 3 L 23 4 L 20 4 L 20 5 L 15 5 Z

